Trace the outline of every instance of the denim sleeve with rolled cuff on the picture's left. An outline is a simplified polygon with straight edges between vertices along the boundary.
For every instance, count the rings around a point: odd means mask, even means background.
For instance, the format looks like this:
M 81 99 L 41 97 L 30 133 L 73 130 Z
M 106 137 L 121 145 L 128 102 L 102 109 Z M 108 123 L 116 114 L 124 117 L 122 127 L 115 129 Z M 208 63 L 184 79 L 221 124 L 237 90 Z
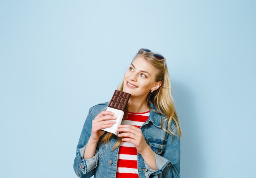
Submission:
M 97 163 L 99 161 L 98 150 L 96 150 L 96 153 L 92 158 L 90 159 L 83 158 L 83 155 L 85 152 L 85 146 L 88 143 L 88 139 L 90 138 L 93 119 L 94 119 L 94 116 L 92 116 L 92 113 L 89 110 L 89 114 L 83 125 L 83 130 L 81 132 L 81 136 L 79 138 L 79 142 L 76 148 L 76 157 L 74 159 L 74 165 L 73 165 L 74 171 L 79 178 L 92 177 L 94 175 L 95 168 L 97 167 Z

